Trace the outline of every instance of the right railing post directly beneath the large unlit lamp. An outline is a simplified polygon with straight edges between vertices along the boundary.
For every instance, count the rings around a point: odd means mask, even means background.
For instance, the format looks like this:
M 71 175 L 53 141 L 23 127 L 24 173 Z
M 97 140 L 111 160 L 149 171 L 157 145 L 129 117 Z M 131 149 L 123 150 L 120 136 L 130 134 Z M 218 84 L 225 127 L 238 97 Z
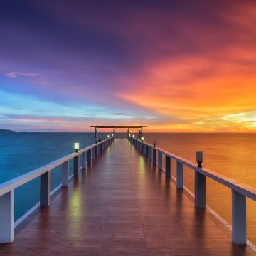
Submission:
M 206 176 L 195 171 L 195 205 L 206 208 Z

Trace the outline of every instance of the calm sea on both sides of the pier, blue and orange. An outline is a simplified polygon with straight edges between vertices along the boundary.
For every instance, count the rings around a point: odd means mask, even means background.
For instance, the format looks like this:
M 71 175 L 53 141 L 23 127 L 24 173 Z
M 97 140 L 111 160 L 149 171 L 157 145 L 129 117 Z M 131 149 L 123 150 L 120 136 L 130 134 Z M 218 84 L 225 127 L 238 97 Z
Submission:
M 92 133 L 14 133 L 0 134 L 0 183 L 26 174 L 50 161 L 94 142 Z M 203 151 L 203 166 L 256 188 L 256 134 L 144 134 L 146 142 L 195 161 Z M 73 164 L 70 163 L 72 168 Z M 175 163 L 171 163 L 176 176 Z M 72 170 L 70 170 L 71 174 Z M 184 184 L 193 191 L 193 171 L 184 169 Z M 60 184 L 60 168 L 52 171 L 52 189 Z M 231 191 L 206 179 L 207 204 L 231 223 Z M 14 192 L 15 220 L 39 201 L 39 179 Z M 256 202 L 247 199 L 247 236 L 256 244 Z

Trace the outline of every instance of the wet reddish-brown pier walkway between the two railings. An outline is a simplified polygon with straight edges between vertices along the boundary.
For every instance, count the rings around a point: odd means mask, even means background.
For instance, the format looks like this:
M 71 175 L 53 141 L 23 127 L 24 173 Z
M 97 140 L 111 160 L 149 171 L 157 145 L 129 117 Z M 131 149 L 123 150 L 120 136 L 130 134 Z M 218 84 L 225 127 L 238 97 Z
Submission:
M 127 140 L 115 140 L 0 255 L 255 255 Z

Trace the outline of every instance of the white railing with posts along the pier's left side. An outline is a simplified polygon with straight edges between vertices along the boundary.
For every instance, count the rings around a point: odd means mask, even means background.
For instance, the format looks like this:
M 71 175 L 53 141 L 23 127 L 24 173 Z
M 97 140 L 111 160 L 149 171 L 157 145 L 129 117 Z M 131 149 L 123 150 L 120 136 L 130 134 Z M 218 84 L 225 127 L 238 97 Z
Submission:
M 92 159 L 96 159 L 107 146 L 114 141 L 114 137 L 102 140 L 77 153 L 69 154 L 56 161 L 46 164 L 27 174 L 6 181 L 0 185 L 0 243 L 9 243 L 14 241 L 14 189 L 23 184 L 40 177 L 40 206 L 50 206 L 50 185 L 51 170 L 61 165 L 62 181 L 61 186 L 68 186 L 69 183 L 69 161 L 73 159 L 73 176 L 78 176 L 80 169 L 85 169 L 86 164 L 90 164 Z M 81 156 L 81 166 L 80 166 Z M 31 210 L 28 210 L 31 213 Z M 28 215 L 28 214 L 27 214 Z M 27 216 L 26 215 L 26 216 Z

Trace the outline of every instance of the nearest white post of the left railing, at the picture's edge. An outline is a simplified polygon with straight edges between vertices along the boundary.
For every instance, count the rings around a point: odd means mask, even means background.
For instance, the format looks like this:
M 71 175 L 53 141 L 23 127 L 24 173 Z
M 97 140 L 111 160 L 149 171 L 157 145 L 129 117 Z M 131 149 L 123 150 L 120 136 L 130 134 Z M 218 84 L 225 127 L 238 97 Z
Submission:
M 14 241 L 14 191 L 0 196 L 0 243 Z

